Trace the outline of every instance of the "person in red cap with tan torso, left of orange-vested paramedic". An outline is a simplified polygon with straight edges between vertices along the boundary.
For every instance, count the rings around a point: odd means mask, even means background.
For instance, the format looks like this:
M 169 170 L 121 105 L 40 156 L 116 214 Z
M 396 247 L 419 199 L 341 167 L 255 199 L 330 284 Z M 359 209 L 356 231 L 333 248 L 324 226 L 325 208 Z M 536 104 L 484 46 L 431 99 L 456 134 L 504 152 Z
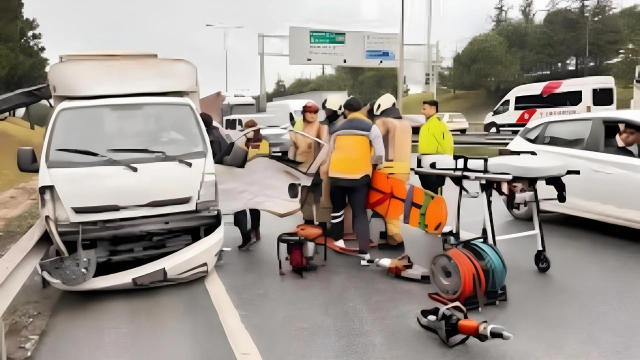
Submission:
M 307 102 L 302 107 L 302 127 L 300 131 L 314 138 L 328 142 L 329 129 L 326 125 L 318 121 L 320 108 L 313 101 Z M 321 143 L 308 138 L 307 136 L 291 131 L 291 149 L 289 158 L 303 163 L 303 168 L 308 168 L 313 163 L 321 150 Z M 326 173 L 326 174 L 323 174 Z M 303 186 L 300 193 L 300 208 L 302 218 L 307 225 L 315 225 L 318 222 L 329 222 L 331 220 L 331 209 L 322 209 L 320 206 L 323 197 L 323 181 L 328 177 L 328 168 L 321 167 L 310 186 Z M 314 208 L 316 209 L 314 215 Z

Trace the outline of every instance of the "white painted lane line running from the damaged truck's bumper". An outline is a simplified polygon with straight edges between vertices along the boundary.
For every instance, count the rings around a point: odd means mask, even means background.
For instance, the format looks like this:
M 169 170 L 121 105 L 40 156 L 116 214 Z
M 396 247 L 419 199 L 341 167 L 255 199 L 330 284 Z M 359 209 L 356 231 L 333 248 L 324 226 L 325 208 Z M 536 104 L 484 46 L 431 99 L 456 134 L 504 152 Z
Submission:
M 204 284 L 207 286 L 216 311 L 218 311 L 220 322 L 223 329 L 225 329 L 231 348 L 236 354 L 236 359 L 262 360 L 258 348 L 244 327 L 240 314 L 231 301 L 225 285 L 220 280 L 215 268 L 205 277 Z

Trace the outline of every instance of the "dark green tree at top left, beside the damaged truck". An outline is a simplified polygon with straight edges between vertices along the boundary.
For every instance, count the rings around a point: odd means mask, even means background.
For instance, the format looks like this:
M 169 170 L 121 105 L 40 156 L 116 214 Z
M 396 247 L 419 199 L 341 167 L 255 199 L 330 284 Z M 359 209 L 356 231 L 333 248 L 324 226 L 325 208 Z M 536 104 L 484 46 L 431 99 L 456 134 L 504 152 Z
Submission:
M 39 24 L 23 8 L 22 0 L 0 1 L 0 94 L 47 81 Z

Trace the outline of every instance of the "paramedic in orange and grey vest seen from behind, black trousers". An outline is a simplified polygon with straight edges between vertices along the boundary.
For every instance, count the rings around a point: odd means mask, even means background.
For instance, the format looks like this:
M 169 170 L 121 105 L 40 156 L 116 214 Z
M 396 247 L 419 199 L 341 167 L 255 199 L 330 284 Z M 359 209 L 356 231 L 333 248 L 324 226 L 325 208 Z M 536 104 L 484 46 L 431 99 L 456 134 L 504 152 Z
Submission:
M 349 97 L 343 108 L 346 120 L 329 130 L 332 147 L 329 162 L 330 197 L 333 208 L 332 238 L 344 246 L 344 209 L 348 200 L 353 213 L 353 232 L 360 250 L 358 256 L 362 258 L 360 263 L 368 265 L 365 261 L 371 259 L 371 240 L 367 195 L 372 170 L 385 160 L 385 145 L 380 129 L 360 113 L 360 100 Z

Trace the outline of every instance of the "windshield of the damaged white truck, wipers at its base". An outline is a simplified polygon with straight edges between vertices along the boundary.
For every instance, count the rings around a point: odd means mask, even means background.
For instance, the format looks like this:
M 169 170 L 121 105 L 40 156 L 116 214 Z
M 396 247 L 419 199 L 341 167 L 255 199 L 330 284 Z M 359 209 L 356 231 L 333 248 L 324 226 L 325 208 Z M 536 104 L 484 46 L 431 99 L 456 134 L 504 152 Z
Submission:
M 187 104 L 113 104 L 61 110 L 52 123 L 47 164 L 92 165 L 104 158 L 56 149 L 82 149 L 115 160 L 150 162 L 159 152 L 204 158 L 207 147 L 195 111 Z M 120 151 L 114 151 L 120 149 Z M 123 151 L 151 149 L 152 152 Z M 162 160 L 158 160 L 162 161 Z M 125 161 L 127 162 L 127 161 Z M 132 163 L 132 161 L 128 161 Z

